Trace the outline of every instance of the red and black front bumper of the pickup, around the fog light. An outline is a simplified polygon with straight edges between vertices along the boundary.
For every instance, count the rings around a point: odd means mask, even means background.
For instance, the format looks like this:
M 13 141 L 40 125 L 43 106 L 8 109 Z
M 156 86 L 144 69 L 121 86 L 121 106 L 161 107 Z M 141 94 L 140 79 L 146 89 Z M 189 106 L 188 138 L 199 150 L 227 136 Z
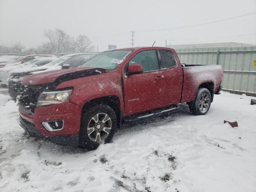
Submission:
M 29 134 L 36 134 L 52 142 L 66 146 L 79 145 L 80 106 L 70 102 L 63 102 L 52 106 L 36 108 L 34 114 L 28 114 L 19 107 L 20 126 Z M 68 111 L 68 113 L 64 113 Z M 61 113 L 63 112 L 63 113 Z M 59 131 L 48 131 L 42 122 L 63 120 L 64 126 Z

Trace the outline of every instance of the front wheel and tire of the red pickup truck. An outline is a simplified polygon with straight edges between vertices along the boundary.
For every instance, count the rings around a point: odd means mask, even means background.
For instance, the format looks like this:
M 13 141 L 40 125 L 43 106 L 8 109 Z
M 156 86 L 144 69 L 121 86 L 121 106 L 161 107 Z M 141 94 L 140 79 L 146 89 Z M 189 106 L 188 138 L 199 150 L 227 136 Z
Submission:
M 116 113 L 108 105 L 94 106 L 81 115 L 79 144 L 87 150 L 109 143 L 117 130 Z

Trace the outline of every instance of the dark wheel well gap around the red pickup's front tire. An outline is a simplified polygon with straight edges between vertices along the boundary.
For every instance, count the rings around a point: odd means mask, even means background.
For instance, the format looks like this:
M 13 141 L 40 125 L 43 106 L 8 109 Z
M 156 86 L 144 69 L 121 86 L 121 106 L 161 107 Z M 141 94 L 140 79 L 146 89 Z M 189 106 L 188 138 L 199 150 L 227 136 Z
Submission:
M 114 112 L 116 113 L 117 127 L 120 128 L 121 111 L 120 111 L 120 98 L 118 96 L 110 95 L 110 96 L 94 98 L 83 105 L 82 113 L 95 105 L 102 105 L 102 104 L 106 104 L 114 110 Z

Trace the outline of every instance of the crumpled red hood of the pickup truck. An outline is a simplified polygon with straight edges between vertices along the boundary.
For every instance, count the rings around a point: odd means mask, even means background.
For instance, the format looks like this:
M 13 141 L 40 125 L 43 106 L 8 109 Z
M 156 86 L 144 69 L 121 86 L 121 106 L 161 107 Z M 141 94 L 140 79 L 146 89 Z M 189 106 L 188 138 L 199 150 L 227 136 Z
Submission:
M 88 67 L 54 70 L 26 76 L 22 80 L 22 84 L 40 85 L 53 82 L 56 82 L 56 84 L 60 84 L 61 82 L 65 82 L 68 80 L 102 74 L 105 72 L 108 72 L 108 70 L 102 68 Z

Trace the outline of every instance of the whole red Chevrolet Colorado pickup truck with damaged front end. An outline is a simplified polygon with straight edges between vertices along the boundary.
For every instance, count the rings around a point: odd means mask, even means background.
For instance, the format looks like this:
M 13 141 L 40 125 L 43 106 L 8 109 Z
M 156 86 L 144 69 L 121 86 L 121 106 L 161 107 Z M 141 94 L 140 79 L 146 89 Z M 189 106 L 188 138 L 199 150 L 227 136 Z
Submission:
M 174 112 L 179 103 L 206 114 L 222 79 L 221 66 L 180 64 L 171 48 L 108 50 L 81 68 L 25 77 L 20 126 L 57 144 L 95 149 L 123 123 Z

